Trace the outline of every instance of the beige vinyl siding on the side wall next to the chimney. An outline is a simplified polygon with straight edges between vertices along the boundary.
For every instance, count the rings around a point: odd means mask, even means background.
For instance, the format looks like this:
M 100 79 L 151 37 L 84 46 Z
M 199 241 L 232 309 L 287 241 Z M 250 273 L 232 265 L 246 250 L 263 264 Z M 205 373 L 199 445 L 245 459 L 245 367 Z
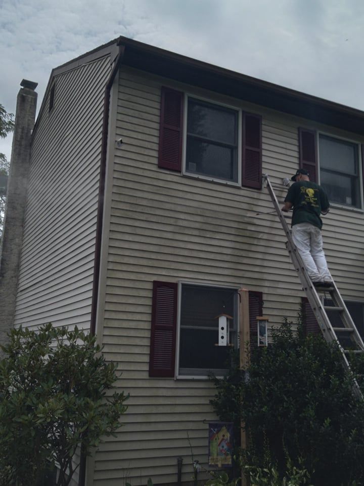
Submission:
M 55 77 L 34 134 L 15 325 L 88 329 L 109 56 Z

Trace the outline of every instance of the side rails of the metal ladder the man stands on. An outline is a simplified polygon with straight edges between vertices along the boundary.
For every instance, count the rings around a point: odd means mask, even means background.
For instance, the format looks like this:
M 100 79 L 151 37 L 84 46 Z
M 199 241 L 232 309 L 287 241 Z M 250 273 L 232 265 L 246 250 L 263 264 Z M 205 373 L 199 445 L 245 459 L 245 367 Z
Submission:
M 277 196 L 276 196 L 274 190 L 272 189 L 272 186 L 271 186 L 271 183 L 269 181 L 267 174 L 263 174 L 263 181 L 266 183 L 266 187 L 267 187 L 267 190 L 268 190 L 269 195 L 271 197 L 271 200 L 273 202 L 273 205 L 274 205 L 274 207 L 277 211 L 278 217 L 281 220 L 282 227 L 283 227 L 283 229 L 286 233 L 287 240 L 288 240 L 287 241 L 288 252 L 291 255 L 292 263 L 293 263 L 296 271 L 298 272 L 298 276 L 300 278 L 303 291 L 307 296 L 308 302 L 309 302 L 311 309 L 312 309 L 312 311 L 313 311 L 313 313 L 314 313 L 314 315 L 317 319 L 317 322 L 319 322 L 319 326 L 320 326 L 320 329 L 323 333 L 323 336 L 324 336 L 324 338 L 327 342 L 334 342 L 335 341 L 338 344 L 339 349 L 341 351 L 344 369 L 348 373 L 352 374 L 350 363 L 349 363 L 349 361 L 348 361 L 348 359 L 345 355 L 345 350 L 341 346 L 341 344 L 340 344 L 340 342 L 337 338 L 335 330 L 334 330 L 333 326 L 331 325 L 331 321 L 330 321 L 330 319 L 329 319 L 329 317 L 326 313 L 326 310 L 324 308 L 324 303 L 322 302 L 319 294 L 316 292 L 316 289 L 313 286 L 312 281 L 311 281 L 311 279 L 310 279 L 310 277 L 307 273 L 307 270 L 306 270 L 306 268 L 303 264 L 302 258 L 300 256 L 300 254 L 298 253 L 296 246 L 294 245 L 292 235 L 291 235 L 291 231 L 289 229 L 289 226 L 287 224 L 285 217 L 282 214 L 280 204 L 278 202 L 278 199 L 277 199 Z M 362 352 L 362 351 L 364 351 L 364 343 L 363 343 L 361 336 L 359 335 L 359 333 L 356 329 L 356 326 L 355 326 L 355 324 L 354 324 L 354 322 L 353 322 L 353 320 L 350 316 L 349 311 L 347 310 L 347 307 L 346 307 L 346 305 L 345 305 L 345 303 L 344 303 L 344 301 L 343 301 L 343 299 L 340 295 L 340 292 L 338 291 L 338 289 L 336 287 L 336 284 L 335 284 L 331 274 L 330 274 L 330 276 L 331 276 L 331 279 L 332 279 L 332 282 L 333 282 L 332 287 L 334 289 L 334 290 L 330 291 L 330 296 L 331 296 L 331 298 L 334 302 L 335 307 L 341 307 L 343 309 L 342 313 L 341 313 L 341 317 L 342 317 L 344 327 L 346 329 L 348 329 L 350 332 L 352 331 L 354 333 L 355 341 L 356 341 L 358 347 L 360 348 L 359 352 Z M 355 380 L 355 378 L 353 378 L 353 381 L 354 381 L 354 385 L 353 385 L 354 394 L 357 397 L 362 398 L 362 393 L 360 391 L 359 385 L 358 385 L 357 381 Z

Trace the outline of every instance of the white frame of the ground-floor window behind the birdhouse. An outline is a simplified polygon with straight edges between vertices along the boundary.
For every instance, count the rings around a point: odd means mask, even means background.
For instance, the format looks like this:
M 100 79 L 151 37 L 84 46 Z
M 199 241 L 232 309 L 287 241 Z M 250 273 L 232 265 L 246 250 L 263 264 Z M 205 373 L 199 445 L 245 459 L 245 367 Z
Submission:
M 181 314 L 181 298 L 182 298 L 182 286 L 183 285 L 193 285 L 195 287 L 213 287 L 213 288 L 220 288 L 220 289 L 232 289 L 238 293 L 238 290 L 241 286 L 235 285 L 228 285 L 228 284 L 211 284 L 211 282 L 196 282 L 191 280 L 179 280 L 178 281 L 178 300 L 177 300 L 177 332 L 176 332 L 176 352 L 175 352 L 175 379 L 176 380 L 208 380 L 208 375 L 180 375 L 179 374 L 179 344 L 180 344 L 180 314 Z M 237 316 L 236 316 L 236 334 L 237 334 L 237 343 L 236 346 L 239 344 L 239 300 L 238 300 L 238 308 L 236 309 Z M 216 323 L 217 326 L 217 323 Z M 237 349 L 237 348 L 235 348 Z M 222 378 L 223 375 L 217 375 L 217 378 Z

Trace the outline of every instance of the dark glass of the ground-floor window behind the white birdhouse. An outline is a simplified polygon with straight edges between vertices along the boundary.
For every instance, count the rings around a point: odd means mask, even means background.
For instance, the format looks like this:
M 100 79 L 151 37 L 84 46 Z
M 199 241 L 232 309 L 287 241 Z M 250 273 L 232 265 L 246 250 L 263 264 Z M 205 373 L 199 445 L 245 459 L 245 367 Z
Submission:
M 218 346 L 218 316 L 228 314 L 229 342 L 237 346 L 237 289 L 181 285 L 179 375 L 224 374 L 229 346 Z

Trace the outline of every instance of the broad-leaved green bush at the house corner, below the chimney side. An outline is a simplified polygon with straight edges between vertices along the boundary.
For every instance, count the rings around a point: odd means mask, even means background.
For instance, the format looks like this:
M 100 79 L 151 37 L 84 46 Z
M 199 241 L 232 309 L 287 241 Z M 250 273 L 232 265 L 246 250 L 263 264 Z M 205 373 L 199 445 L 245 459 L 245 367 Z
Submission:
M 0 484 L 34 486 L 45 470 L 69 484 L 75 452 L 97 447 L 120 427 L 124 393 L 106 396 L 117 379 L 96 338 L 77 328 L 12 330 L 0 361 Z

